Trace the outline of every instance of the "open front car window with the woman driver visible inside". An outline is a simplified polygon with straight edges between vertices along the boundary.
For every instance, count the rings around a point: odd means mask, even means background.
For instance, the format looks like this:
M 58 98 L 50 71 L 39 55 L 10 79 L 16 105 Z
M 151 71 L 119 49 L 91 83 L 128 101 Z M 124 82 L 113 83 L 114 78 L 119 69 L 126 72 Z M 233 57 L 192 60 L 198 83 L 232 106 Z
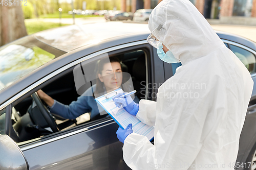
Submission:
M 113 64 L 114 63 L 114 64 Z M 65 75 L 41 88 L 55 100 L 47 106 L 60 131 L 93 123 L 109 116 L 95 98 L 116 88 L 124 92 L 137 90 L 132 98 L 136 103 L 147 99 L 146 56 L 143 50 L 108 53 L 83 61 Z M 13 129 L 19 145 L 47 137 L 53 133 L 31 96 L 14 105 Z M 16 139 L 12 137 L 13 139 Z

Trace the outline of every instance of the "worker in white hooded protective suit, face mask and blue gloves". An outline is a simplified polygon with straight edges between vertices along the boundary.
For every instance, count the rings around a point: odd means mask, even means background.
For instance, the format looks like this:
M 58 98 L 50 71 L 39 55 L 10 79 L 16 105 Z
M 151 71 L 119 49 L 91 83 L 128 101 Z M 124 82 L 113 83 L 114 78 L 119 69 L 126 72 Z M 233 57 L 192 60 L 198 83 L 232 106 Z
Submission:
M 234 169 L 253 87 L 249 71 L 188 0 L 163 0 L 148 27 L 159 57 L 182 66 L 159 87 L 156 102 L 113 97 L 155 126 L 154 144 L 131 125 L 118 129 L 124 161 L 132 169 Z

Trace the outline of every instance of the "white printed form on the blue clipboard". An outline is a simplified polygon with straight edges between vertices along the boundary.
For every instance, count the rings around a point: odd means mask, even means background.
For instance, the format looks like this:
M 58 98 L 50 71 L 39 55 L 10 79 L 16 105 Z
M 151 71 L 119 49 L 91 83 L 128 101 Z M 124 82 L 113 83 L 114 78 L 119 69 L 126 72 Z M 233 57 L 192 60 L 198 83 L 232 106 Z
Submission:
M 121 128 L 125 129 L 127 125 L 133 124 L 133 132 L 146 136 L 148 140 L 152 140 L 155 128 L 153 126 L 143 124 L 136 116 L 131 115 L 124 110 L 124 108 L 116 107 L 112 97 L 117 93 L 123 93 L 123 90 L 119 88 L 108 94 L 99 96 L 95 100 L 111 115 Z

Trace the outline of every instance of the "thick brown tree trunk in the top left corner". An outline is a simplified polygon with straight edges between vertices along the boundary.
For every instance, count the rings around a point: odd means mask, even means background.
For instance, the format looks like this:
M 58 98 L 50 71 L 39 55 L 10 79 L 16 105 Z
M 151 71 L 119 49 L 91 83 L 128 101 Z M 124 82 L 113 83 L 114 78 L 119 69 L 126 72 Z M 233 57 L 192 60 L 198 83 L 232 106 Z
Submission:
M 0 46 L 26 35 L 28 34 L 20 4 L 17 5 L 16 1 L 16 5 L 0 5 Z

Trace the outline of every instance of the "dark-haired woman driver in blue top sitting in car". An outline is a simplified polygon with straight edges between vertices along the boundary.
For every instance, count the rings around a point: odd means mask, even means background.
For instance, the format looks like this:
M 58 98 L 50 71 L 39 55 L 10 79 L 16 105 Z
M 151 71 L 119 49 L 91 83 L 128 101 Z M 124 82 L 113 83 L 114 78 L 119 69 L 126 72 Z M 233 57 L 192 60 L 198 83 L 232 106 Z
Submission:
M 117 57 L 110 57 L 100 60 L 98 63 L 96 85 L 87 89 L 77 101 L 73 101 L 70 105 L 63 105 L 58 101 L 52 99 L 48 94 L 42 90 L 37 93 L 40 99 L 44 100 L 50 107 L 50 112 L 60 115 L 68 119 L 75 119 L 76 117 L 91 112 L 91 119 L 99 115 L 102 108 L 98 108 L 94 100 L 98 96 L 118 89 L 122 84 L 122 70 L 120 60 Z M 93 90 L 92 90 L 93 88 Z M 94 92 L 92 95 L 92 91 Z

